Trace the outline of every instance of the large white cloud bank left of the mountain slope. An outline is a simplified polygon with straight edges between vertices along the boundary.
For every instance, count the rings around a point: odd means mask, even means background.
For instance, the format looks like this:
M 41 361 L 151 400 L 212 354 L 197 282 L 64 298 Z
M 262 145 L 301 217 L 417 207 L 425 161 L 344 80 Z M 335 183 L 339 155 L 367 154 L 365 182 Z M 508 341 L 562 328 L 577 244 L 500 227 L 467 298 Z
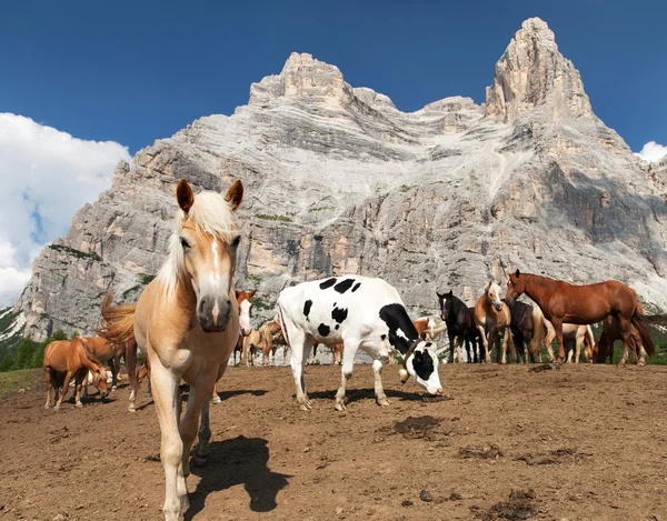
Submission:
M 0 113 L 0 307 L 30 278 L 44 244 L 63 236 L 74 212 L 111 186 L 127 147 L 84 141 L 29 118 Z

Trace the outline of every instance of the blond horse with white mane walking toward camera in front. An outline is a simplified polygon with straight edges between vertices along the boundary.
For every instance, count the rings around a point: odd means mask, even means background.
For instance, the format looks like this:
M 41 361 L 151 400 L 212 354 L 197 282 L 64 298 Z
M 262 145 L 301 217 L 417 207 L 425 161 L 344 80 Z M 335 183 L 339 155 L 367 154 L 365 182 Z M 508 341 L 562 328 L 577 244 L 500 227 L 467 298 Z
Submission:
M 243 186 L 236 181 L 227 196 L 195 192 L 185 179 L 176 190 L 180 210 L 169 244 L 169 258 L 135 305 L 102 308 L 103 335 L 113 343 L 135 340 L 148 353 L 150 381 L 162 433 L 165 469 L 162 512 L 176 521 L 189 504 L 186 478 L 190 448 L 203 463 L 210 453 L 209 402 L 239 338 L 239 309 L 233 288 L 240 227 L 236 210 Z M 181 418 L 179 383 L 190 384 Z

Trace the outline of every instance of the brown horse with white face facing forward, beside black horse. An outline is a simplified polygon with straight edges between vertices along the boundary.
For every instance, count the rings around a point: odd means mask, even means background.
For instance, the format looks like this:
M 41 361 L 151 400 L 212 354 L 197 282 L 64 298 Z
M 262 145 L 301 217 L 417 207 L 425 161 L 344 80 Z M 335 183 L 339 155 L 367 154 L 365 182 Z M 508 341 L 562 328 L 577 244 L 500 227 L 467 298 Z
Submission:
M 498 349 L 500 337 L 502 337 L 502 354 L 499 350 L 496 351 L 498 361 L 507 363 L 508 347 L 510 354 L 516 357 L 517 350 L 509 330 L 510 323 L 511 313 L 509 307 L 500 300 L 500 287 L 491 281 L 475 305 L 475 324 L 481 335 L 487 363 L 491 361 L 494 348 Z

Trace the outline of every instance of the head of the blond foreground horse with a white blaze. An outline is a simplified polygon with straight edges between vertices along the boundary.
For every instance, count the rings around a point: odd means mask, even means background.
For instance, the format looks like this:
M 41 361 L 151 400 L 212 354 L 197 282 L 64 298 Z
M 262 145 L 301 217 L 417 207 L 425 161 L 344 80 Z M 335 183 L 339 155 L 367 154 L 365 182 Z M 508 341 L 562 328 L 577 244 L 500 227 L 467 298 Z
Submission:
M 177 236 L 180 244 L 175 248 L 180 247 L 181 273 L 195 290 L 199 324 L 205 332 L 225 331 L 232 315 L 231 289 L 241 239 L 235 212 L 243 199 L 243 184 L 236 181 L 225 199 L 213 192 L 195 197 L 181 179 L 176 196 L 182 222 Z

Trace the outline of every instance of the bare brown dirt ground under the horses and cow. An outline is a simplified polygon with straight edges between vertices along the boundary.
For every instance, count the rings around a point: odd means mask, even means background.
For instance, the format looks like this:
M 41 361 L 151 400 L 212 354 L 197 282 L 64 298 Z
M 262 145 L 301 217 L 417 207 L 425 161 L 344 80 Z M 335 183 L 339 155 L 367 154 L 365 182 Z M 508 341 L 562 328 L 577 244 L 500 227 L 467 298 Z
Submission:
M 337 413 L 339 368 L 309 367 L 307 413 L 288 368 L 230 368 L 186 519 L 667 520 L 667 368 L 440 373 L 449 399 L 425 401 L 387 367 L 379 408 L 357 367 Z M 161 519 L 157 415 L 128 394 L 57 412 L 43 383 L 2 398 L 0 518 Z

